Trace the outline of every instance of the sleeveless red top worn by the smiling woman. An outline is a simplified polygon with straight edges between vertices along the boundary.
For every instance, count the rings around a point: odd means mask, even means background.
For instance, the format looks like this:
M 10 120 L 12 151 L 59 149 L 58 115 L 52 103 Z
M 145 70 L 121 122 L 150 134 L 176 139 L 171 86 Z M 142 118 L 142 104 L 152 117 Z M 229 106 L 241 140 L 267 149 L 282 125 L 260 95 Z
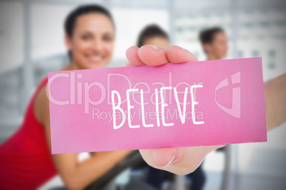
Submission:
M 37 189 L 57 174 L 44 126 L 33 111 L 36 94 L 47 82 L 38 86 L 21 128 L 0 146 L 0 189 Z

